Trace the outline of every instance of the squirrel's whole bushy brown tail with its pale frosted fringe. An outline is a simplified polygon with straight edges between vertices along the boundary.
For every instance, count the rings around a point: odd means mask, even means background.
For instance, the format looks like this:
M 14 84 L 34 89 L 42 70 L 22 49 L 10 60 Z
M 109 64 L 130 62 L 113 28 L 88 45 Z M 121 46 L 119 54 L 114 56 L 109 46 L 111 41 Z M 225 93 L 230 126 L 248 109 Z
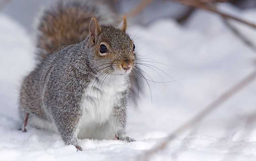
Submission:
M 110 8 L 100 0 L 61 0 L 45 10 L 37 27 L 37 59 L 42 61 L 57 49 L 84 40 L 92 16 L 100 24 L 115 25 L 117 16 Z

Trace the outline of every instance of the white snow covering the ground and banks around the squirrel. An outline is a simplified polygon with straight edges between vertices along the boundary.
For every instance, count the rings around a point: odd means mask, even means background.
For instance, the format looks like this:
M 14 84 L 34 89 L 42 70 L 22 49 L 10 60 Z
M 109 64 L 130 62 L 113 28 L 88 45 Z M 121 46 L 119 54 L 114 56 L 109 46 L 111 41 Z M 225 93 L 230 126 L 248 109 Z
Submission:
M 256 11 L 225 11 L 256 23 Z M 256 32 L 235 23 L 256 44 Z M 168 133 L 195 116 L 253 71 L 255 52 L 237 39 L 215 15 L 197 11 L 186 26 L 171 19 L 147 28 L 129 25 L 140 55 L 169 65 L 153 64 L 177 82 L 145 84 L 137 107 L 129 107 L 127 135 L 136 142 L 79 140 L 85 151 L 65 146 L 57 133 L 21 126 L 17 113 L 20 81 L 34 67 L 34 41 L 23 26 L 0 14 L 0 160 L 133 160 Z M 170 66 L 172 65 L 172 66 Z M 153 70 L 143 68 L 161 81 Z M 165 81 L 172 80 L 160 71 Z M 256 82 L 250 84 L 199 125 L 174 139 L 153 160 L 256 160 L 256 125 L 247 124 L 255 112 Z

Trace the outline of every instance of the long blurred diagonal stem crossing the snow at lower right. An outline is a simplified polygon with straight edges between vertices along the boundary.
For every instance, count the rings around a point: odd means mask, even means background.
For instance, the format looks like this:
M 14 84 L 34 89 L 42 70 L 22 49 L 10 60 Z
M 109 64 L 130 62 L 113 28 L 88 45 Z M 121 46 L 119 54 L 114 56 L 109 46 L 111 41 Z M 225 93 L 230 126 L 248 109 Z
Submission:
M 176 136 L 180 135 L 182 132 L 187 130 L 190 127 L 195 126 L 198 122 L 200 122 L 203 118 L 205 118 L 207 115 L 209 115 L 213 110 L 218 108 L 221 104 L 223 104 L 225 101 L 227 101 L 230 97 L 232 97 L 237 92 L 241 91 L 243 88 L 245 88 L 247 85 L 249 85 L 251 82 L 253 82 L 256 78 L 256 70 L 252 72 L 249 76 L 244 78 L 241 82 L 233 86 L 230 90 L 223 93 L 219 98 L 217 98 L 215 101 L 213 101 L 210 105 L 206 106 L 204 110 L 202 110 L 198 115 L 193 117 L 191 120 L 180 126 L 178 129 L 176 129 L 174 132 L 170 133 L 168 137 L 159 145 L 155 146 L 153 149 L 147 151 L 143 155 L 139 156 L 139 160 L 149 160 L 149 158 L 157 153 L 158 151 L 163 150 L 170 141 L 172 141 Z

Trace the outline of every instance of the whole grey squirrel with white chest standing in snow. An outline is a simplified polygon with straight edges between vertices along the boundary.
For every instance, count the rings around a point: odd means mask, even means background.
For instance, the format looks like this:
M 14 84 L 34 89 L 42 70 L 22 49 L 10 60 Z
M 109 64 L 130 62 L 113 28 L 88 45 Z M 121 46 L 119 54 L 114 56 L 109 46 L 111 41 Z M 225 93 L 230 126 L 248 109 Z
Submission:
M 37 128 L 57 131 L 66 145 L 77 139 L 135 141 L 126 136 L 129 75 L 135 45 L 115 13 L 95 1 L 59 1 L 38 24 L 35 69 L 24 79 L 19 114 Z

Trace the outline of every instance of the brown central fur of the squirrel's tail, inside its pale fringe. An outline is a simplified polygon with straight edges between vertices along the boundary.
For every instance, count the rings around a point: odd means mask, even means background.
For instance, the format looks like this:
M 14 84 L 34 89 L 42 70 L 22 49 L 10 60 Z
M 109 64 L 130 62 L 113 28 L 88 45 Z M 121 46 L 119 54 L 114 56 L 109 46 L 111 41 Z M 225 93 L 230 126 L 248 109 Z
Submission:
M 60 47 L 81 42 L 89 34 L 92 13 L 84 8 L 58 3 L 55 10 L 46 11 L 40 20 L 37 47 L 45 50 L 42 59 Z

